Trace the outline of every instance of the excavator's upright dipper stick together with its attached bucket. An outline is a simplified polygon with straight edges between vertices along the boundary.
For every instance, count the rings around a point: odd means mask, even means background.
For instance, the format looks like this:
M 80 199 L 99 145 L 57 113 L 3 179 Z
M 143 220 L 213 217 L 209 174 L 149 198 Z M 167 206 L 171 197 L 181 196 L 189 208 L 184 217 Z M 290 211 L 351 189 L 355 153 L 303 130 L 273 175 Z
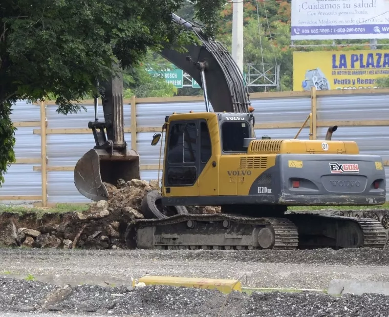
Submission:
M 124 140 L 123 79 L 112 78 L 101 91 L 104 121 L 99 121 L 95 98 L 95 121 L 89 122 L 96 146 L 78 160 L 74 184 L 85 197 L 108 200 L 106 184 L 117 185 L 119 179 L 140 179 L 139 154 L 127 148 Z M 107 131 L 107 136 L 105 133 Z M 109 186 L 109 185 L 108 185 Z

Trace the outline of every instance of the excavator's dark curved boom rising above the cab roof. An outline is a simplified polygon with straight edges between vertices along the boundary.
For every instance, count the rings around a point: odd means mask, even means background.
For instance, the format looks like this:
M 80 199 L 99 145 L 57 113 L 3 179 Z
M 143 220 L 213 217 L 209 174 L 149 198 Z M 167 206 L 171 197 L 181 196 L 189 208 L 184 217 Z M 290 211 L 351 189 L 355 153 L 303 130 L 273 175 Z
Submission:
M 194 26 L 175 14 L 172 14 L 172 19 L 194 32 L 202 44 L 187 45 L 187 52 L 184 53 L 166 48 L 160 55 L 194 78 L 203 88 L 204 95 L 208 97 L 215 112 L 249 112 L 250 99 L 247 87 L 244 86 L 243 74 L 228 50 L 208 37 L 201 27 Z M 205 89 L 201 79 L 203 70 Z

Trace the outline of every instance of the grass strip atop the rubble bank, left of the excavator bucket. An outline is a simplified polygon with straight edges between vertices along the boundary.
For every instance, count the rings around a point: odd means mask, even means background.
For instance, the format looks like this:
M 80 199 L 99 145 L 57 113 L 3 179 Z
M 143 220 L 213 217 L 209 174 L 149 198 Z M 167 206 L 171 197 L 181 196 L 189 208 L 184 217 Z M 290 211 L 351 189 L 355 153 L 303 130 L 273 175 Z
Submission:
M 52 208 L 40 208 L 40 207 L 26 207 L 26 206 L 7 206 L 0 205 L 0 213 L 11 212 L 17 214 L 25 214 L 28 212 L 36 213 L 42 215 L 44 213 L 65 213 L 73 211 L 86 211 L 88 209 L 88 204 L 85 205 L 73 205 L 73 204 L 57 204 Z

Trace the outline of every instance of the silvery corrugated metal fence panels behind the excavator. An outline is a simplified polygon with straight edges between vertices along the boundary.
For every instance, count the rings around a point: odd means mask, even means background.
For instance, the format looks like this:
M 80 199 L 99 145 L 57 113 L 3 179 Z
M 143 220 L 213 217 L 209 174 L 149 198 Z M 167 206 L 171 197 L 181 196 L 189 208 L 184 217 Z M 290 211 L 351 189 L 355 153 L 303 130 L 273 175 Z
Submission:
M 389 161 L 389 126 L 367 125 L 368 123 L 366 123 L 374 120 L 389 120 L 387 94 L 388 92 L 386 94 L 358 93 L 357 95 L 318 94 L 316 98 L 317 139 L 324 139 L 328 128 L 326 123 L 331 125 L 335 122 L 339 128 L 334 133 L 333 140 L 356 141 L 361 153 L 381 155 L 384 161 Z M 281 97 L 278 97 L 279 95 Z M 294 93 L 280 93 L 278 95 L 273 93 L 269 98 L 263 98 L 263 96 L 266 97 L 266 94 L 260 96 L 257 94 L 258 99 L 252 98 L 256 126 L 259 127 L 255 129 L 257 138 L 263 135 L 269 135 L 272 138 L 293 138 L 313 109 L 312 98 L 309 94 L 297 94 L 296 96 Z M 155 98 L 151 99 L 152 102 L 148 102 L 147 98 L 139 100 L 140 102 L 136 105 L 136 128 L 139 129 L 139 132 L 136 133 L 136 150 L 140 154 L 141 166 L 144 167 L 141 170 L 141 178 L 145 180 L 156 179 L 158 170 L 155 169 L 155 166 L 158 165 L 159 146 L 152 147 L 150 145 L 153 133 L 160 130 L 166 115 L 173 112 L 189 112 L 190 110 L 204 111 L 204 103 L 203 101 L 173 102 L 172 99 L 157 103 L 154 102 Z M 55 106 L 46 106 L 48 203 L 89 202 L 76 190 L 73 171 L 71 171 L 77 160 L 94 146 L 91 131 L 85 131 L 88 122 L 94 119 L 93 104 L 83 106 L 86 106 L 87 111 L 67 116 L 58 114 L 55 111 Z M 13 198 L 12 196 L 42 195 L 40 164 L 35 162 L 41 157 L 40 106 L 19 101 L 13 109 L 12 120 L 15 123 L 20 123 L 20 127 L 16 131 L 15 152 L 17 159 L 21 162 L 13 164 L 5 175 L 5 183 L 0 189 L 1 200 L 4 200 L 1 198 L 4 196 Z M 131 147 L 130 112 L 130 103 L 125 103 L 124 117 L 125 128 L 127 128 L 125 140 Z M 103 118 L 101 107 L 99 116 Z M 350 121 L 354 121 L 354 124 L 350 124 Z M 360 126 L 355 126 L 362 121 L 365 124 L 361 123 Z M 29 124 L 25 127 L 22 122 L 29 122 Z M 344 123 L 343 126 L 342 123 Z M 290 127 L 285 127 L 288 124 Z M 69 129 L 77 130 L 70 131 Z M 309 125 L 303 128 L 299 139 L 309 139 Z M 35 161 L 30 163 L 28 159 L 35 159 Z M 387 166 L 385 170 L 389 191 L 389 167 Z M 11 202 L 37 201 L 37 199 L 31 198 Z M 10 201 L 5 202 L 9 203 Z

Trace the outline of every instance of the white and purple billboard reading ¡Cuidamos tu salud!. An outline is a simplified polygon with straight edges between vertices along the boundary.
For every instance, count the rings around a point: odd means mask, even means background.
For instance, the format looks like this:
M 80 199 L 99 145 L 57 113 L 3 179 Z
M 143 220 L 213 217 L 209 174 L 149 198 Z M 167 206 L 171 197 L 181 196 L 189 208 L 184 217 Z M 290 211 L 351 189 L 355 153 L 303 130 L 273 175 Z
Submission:
M 291 40 L 388 39 L 388 0 L 292 0 Z

